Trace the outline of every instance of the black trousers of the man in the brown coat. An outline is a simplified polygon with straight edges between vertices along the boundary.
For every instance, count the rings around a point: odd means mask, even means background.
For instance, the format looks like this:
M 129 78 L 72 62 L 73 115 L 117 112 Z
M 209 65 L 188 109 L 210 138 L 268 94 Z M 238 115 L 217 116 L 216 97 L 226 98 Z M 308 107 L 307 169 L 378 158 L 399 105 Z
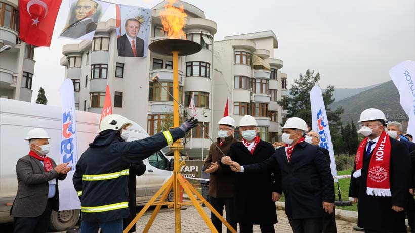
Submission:
M 209 203 L 215 208 L 218 213 L 223 216 L 223 206 L 225 206 L 226 211 L 226 221 L 235 229 L 236 222 L 235 222 L 235 201 L 233 198 L 214 198 L 209 196 Z M 222 222 L 211 212 L 211 219 L 212 224 L 215 226 L 216 230 L 221 233 L 222 232 Z M 231 232 L 229 229 L 226 232 Z

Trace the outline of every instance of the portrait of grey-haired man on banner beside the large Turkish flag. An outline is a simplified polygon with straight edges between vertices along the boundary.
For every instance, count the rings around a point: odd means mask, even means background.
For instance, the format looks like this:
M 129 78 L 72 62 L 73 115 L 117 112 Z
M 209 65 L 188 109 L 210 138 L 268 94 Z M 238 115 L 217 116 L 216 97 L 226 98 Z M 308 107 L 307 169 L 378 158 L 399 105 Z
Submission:
M 60 36 L 77 39 L 97 29 L 95 15 L 100 15 L 99 4 L 93 0 L 78 0 L 71 9 L 69 25 Z

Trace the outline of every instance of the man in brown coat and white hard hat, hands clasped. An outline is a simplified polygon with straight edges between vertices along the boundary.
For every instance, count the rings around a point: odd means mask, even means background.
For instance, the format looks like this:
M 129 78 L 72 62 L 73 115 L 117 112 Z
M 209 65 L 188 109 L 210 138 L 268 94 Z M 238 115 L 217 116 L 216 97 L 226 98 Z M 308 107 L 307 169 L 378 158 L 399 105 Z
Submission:
M 235 120 L 232 117 L 223 117 L 219 122 L 217 142 L 209 149 L 208 158 L 204 162 L 205 170 L 209 173 L 209 203 L 220 214 L 225 206 L 226 221 L 236 230 L 235 222 L 235 185 L 234 173 L 229 169 L 219 166 L 221 158 L 228 153 L 232 144 L 238 142 L 233 138 Z M 220 151 L 219 151 L 220 150 Z M 215 214 L 211 213 L 212 223 L 218 232 L 222 232 L 222 222 Z M 227 232 L 230 232 L 227 229 Z

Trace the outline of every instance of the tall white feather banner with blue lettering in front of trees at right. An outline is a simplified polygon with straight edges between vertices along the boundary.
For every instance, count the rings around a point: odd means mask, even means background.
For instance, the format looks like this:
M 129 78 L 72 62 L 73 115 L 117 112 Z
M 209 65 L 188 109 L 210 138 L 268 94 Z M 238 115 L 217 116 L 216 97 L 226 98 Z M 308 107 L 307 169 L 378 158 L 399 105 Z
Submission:
M 320 143 L 318 146 L 325 148 L 330 153 L 330 168 L 333 177 L 337 176 L 335 153 L 333 143 L 331 143 L 330 128 L 328 127 L 327 113 L 325 111 L 323 93 L 320 87 L 314 86 L 310 91 L 311 116 L 313 121 L 313 131 L 320 134 Z M 335 179 L 335 182 L 338 182 Z

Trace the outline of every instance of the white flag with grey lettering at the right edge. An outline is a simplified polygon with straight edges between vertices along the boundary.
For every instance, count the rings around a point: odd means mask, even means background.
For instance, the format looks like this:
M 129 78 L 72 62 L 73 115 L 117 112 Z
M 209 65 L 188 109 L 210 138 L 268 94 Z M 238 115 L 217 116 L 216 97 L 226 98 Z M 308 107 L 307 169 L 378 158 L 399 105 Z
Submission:
M 409 117 L 406 133 L 415 135 L 415 62 L 401 62 L 389 70 L 389 75 L 398 88 L 399 103 Z

